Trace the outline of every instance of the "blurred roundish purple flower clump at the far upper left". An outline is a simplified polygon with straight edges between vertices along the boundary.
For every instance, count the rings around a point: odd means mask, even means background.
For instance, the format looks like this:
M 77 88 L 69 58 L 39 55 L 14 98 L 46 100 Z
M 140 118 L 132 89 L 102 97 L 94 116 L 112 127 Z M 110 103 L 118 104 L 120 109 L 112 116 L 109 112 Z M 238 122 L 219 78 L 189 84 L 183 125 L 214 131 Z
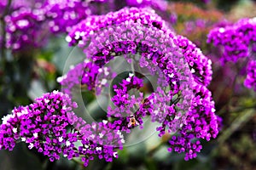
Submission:
M 38 9 L 20 8 L 5 17 L 6 48 L 14 51 L 40 47 L 44 43 L 44 31 L 41 25 L 44 14 Z

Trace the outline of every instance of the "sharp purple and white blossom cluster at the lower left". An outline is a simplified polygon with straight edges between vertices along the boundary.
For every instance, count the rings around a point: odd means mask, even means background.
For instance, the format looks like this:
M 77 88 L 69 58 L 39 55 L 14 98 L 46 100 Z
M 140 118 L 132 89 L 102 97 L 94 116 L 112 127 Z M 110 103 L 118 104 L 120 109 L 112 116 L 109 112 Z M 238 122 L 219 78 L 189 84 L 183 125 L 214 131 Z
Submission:
M 123 136 L 110 130 L 108 122 L 88 124 L 73 113 L 77 104 L 67 94 L 54 91 L 36 102 L 15 108 L 3 117 L 0 149 L 13 150 L 20 140 L 35 148 L 50 161 L 81 157 L 84 166 L 93 156 L 112 161 L 115 149 L 122 149 Z

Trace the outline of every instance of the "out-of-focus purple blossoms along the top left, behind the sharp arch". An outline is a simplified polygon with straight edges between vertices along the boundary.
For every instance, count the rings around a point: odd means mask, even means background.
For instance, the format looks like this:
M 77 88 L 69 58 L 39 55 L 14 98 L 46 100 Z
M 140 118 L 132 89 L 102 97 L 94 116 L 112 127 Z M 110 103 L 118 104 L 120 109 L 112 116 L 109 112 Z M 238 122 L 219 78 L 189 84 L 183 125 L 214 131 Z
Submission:
M 153 8 L 166 6 L 163 0 L 134 2 L 127 0 L 119 7 L 112 0 L 15 0 L 8 7 L 8 1 L 3 0 L 0 2 L 0 11 L 8 8 L 8 14 L 3 16 L 7 32 L 6 48 L 17 51 L 27 47 L 41 47 L 45 44 L 43 40 L 49 38 L 49 31 L 54 34 L 67 33 L 72 30 L 72 26 L 90 15 L 108 13 L 125 5 Z M 103 10 L 106 6 L 111 8 Z

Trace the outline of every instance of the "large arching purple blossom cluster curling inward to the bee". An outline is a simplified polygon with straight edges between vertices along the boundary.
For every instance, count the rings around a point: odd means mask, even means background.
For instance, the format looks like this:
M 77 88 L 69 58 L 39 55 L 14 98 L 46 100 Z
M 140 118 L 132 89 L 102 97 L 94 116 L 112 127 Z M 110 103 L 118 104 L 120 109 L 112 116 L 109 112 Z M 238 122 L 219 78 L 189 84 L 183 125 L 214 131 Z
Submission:
M 147 98 L 143 99 L 143 93 L 135 98 L 129 90 L 142 88 L 143 79 L 129 74 L 113 86 L 114 107 L 109 107 L 107 113 L 113 129 L 130 133 L 137 125 L 143 127 L 144 116 L 150 116 L 152 122 L 161 123 L 156 129 L 160 136 L 176 133 L 169 150 L 185 152 L 186 160 L 201 150 L 199 139 L 216 138 L 218 116 L 214 114 L 212 94 L 206 88 L 212 79 L 211 60 L 187 38 L 170 31 L 154 10 L 123 8 L 90 16 L 73 26 L 67 42 L 79 44 L 99 67 L 122 56 L 128 63 L 134 61 L 151 75 L 166 79 L 167 83 L 161 85 L 171 88 L 166 92 L 158 86 Z M 137 55 L 140 59 L 136 59 Z

